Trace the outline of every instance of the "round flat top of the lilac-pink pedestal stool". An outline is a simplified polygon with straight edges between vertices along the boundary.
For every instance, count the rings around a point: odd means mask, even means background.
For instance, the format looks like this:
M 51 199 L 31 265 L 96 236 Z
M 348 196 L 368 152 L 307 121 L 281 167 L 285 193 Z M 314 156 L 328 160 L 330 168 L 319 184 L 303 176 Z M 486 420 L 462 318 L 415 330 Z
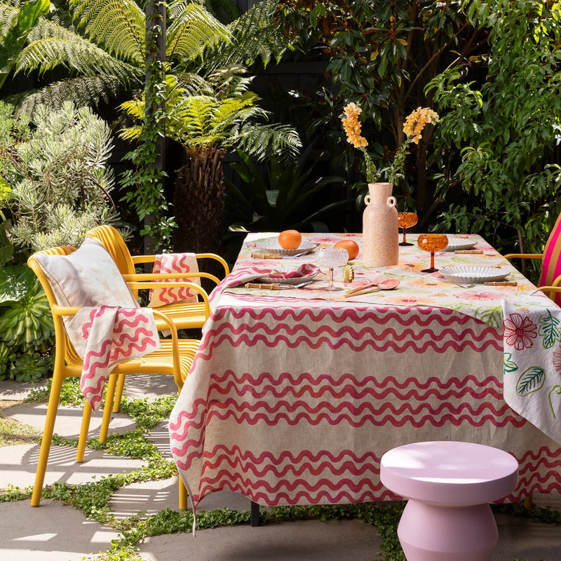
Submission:
M 496 501 L 518 483 L 518 461 L 472 442 L 414 442 L 381 457 L 381 482 L 408 499 L 450 505 Z

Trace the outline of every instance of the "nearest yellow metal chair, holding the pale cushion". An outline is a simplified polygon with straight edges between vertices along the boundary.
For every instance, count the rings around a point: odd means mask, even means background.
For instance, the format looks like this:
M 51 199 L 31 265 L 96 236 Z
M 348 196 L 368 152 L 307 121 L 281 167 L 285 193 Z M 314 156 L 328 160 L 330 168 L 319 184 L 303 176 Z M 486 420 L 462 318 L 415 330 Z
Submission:
M 50 443 L 53 440 L 53 430 L 60 401 L 62 382 L 68 377 L 80 376 L 83 367 L 83 360 L 79 357 L 78 353 L 76 353 L 68 337 L 65 323 L 62 321 L 63 316 L 73 316 L 80 308 L 59 306 L 57 304 L 53 288 L 51 288 L 46 274 L 37 262 L 36 256 L 41 254 L 70 255 L 74 251 L 75 248 L 61 246 L 35 253 L 27 260 L 27 264 L 29 264 L 29 267 L 34 271 L 37 278 L 39 278 L 39 282 L 46 292 L 55 324 L 55 366 L 53 381 L 50 386 L 50 396 L 45 419 L 45 428 L 43 431 L 43 440 L 41 442 L 41 452 L 39 454 L 39 464 L 37 465 L 35 485 L 32 494 L 32 506 L 39 506 L 39 502 L 41 501 L 41 492 L 43 489 Z M 174 283 L 174 286 L 177 286 L 177 283 Z M 161 324 L 165 325 L 165 329 L 171 332 L 171 339 L 162 339 L 161 349 L 158 351 L 145 355 L 142 358 L 120 363 L 111 372 L 107 382 L 106 403 L 104 405 L 101 429 L 105 436 L 107 436 L 107 427 L 109 426 L 111 417 L 111 400 L 112 396 L 114 396 L 116 379 L 119 374 L 171 374 L 173 375 L 179 391 L 181 391 L 184 380 L 187 378 L 199 342 L 194 339 L 178 339 L 177 327 L 175 327 L 173 321 L 163 315 L 163 313 L 154 311 L 154 317 L 158 318 Z M 78 450 L 76 451 L 76 461 L 78 462 L 83 461 L 84 452 L 86 450 L 91 411 L 91 407 L 86 401 L 82 415 Z M 100 440 L 102 440 L 101 437 Z M 179 503 L 180 508 L 187 508 L 187 492 L 181 480 Z

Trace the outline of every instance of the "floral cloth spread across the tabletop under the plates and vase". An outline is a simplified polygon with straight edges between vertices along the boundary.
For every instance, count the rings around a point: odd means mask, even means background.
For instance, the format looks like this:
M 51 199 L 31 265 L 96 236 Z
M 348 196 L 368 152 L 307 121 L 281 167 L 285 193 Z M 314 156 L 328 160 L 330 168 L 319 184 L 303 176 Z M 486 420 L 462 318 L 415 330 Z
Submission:
M 241 274 L 243 269 L 258 268 L 259 270 L 289 271 L 295 269 L 302 263 L 316 264 L 314 252 L 297 258 L 283 259 L 259 259 L 259 250 L 255 245 L 260 240 L 274 239 L 278 234 L 259 233 L 248 234 L 240 255 L 234 268 L 234 274 Z M 452 236 L 450 236 L 452 237 Z M 342 268 L 335 270 L 335 283 L 344 289 L 340 292 L 326 292 L 327 274 L 318 276 L 318 280 L 302 289 L 283 290 L 282 297 L 285 298 L 309 298 L 329 300 L 351 300 L 365 302 L 368 304 L 379 304 L 380 306 L 427 306 L 429 308 L 438 306 L 440 308 L 452 309 L 484 321 L 494 327 L 503 326 L 502 300 L 506 297 L 516 296 L 519 302 L 526 306 L 547 308 L 551 306 L 550 299 L 536 290 L 536 286 L 522 276 L 515 267 L 497 252 L 487 241 L 476 234 L 461 236 L 466 241 L 475 243 L 473 250 L 481 250 L 482 254 L 459 254 L 455 252 L 438 252 L 435 255 L 435 266 L 439 269 L 445 266 L 473 265 L 500 267 L 501 271 L 508 272 L 506 280 L 515 280 L 516 286 L 488 286 L 475 285 L 473 287 L 461 287 L 450 283 L 437 271 L 435 273 L 423 273 L 428 268 L 430 254 L 417 246 L 417 235 L 407 234 L 407 241 L 414 245 L 400 246 L 400 256 L 397 266 L 388 267 L 365 267 L 361 262 L 362 253 L 359 252 L 353 260 L 355 280 L 352 283 L 343 283 Z M 457 236 L 454 236 L 457 238 Z M 359 248 L 362 247 L 362 234 L 303 234 L 303 241 L 321 245 L 334 245 L 337 241 L 351 239 L 356 241 Z M 265 251 L 262 251 L 265 253 Z M 270 251 L 268 251 L 270 253 Z M 252 254 L 255 257 L 252 257 Z M 380 290 L 367 295 L 344 298 L 344 292 L 358 287 L 367 282 L 370 277 L 377 273 L 384 273 L 390 278 L 400 280 L 400 285 L 394 290 Z M 327 273 L 324 270 L 324 273 Z M 227 281 L 226 281 L 227 282 Z M 256 296 L 278 297 L 278 291 L 246 289 L 243 286 L 237 288 L 226 288 L 225 284 L 219 285 L 212 299 L 216 302 L 217 295 L 221 290 L 228 290 L 236 294 L 251 294 Z

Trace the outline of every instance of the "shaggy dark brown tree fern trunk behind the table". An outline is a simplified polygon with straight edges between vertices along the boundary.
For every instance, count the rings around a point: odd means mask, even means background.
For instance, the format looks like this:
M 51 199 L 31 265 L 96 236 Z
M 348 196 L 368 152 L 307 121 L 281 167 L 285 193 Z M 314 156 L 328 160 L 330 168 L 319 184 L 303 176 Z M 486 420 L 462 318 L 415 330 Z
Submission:
M 224 229 L 224 151 L 186 148 L 186 154 L 175 181 L 174 250 L 219 253 Z

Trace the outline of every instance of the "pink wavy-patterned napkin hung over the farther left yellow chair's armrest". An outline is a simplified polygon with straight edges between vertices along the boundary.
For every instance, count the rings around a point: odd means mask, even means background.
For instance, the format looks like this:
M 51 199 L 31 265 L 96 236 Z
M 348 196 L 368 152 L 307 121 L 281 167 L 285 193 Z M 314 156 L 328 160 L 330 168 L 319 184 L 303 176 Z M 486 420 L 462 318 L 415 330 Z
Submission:
M 194 253 L 163 253 L 156 255 L 154 260 L 154 273 L 198 273 L 197 258 Z M 201 279 L 195 278 L 170 278 L 165 282 L 180 283 L 187 280 L 189 283 L 201 285 Z M 158 280 L 154 280 L 158 283 Z M 157 308 L 165 304 L 179 302 L 197 302 L 197 293 L 187 287 L 154 288 L 150 290 L 150 308 Z

